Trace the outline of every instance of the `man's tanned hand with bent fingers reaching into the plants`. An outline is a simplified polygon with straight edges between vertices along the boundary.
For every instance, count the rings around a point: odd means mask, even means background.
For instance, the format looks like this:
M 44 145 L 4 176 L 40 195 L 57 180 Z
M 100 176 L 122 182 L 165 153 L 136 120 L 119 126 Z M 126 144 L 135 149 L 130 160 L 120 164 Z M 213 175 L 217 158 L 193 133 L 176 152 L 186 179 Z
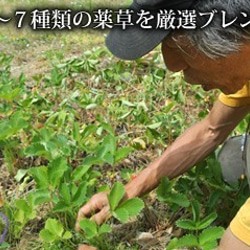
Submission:
M 95 221 L 98 225 L 110 218 L 109 202 L 107 192 L 101 192 L 92 196 L 88 203 L 80 208 L 76 221 L 76 230 L 80 231 L 79 222 L 87 217 Z

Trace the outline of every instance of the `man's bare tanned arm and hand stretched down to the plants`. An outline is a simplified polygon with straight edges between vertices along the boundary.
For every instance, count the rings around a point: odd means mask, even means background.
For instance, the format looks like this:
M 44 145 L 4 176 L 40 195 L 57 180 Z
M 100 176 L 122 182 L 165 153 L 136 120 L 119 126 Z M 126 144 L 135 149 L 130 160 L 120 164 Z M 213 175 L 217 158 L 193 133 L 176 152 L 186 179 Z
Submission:
M 250 106 L 231 108 L 217 101 L 204 120 L 186 130 L 162 156 L 125 186 L 124 199 L 142 196 L 156 188 L 163 176 L 172 179 L 203 160 L 227 138 L 249 110 Z M 98 224 L 110 217 L 107 193 L 94 195 L 79 210 L 76 228 L 79 229 L 78 222 L 82 218 L 90 216 Z

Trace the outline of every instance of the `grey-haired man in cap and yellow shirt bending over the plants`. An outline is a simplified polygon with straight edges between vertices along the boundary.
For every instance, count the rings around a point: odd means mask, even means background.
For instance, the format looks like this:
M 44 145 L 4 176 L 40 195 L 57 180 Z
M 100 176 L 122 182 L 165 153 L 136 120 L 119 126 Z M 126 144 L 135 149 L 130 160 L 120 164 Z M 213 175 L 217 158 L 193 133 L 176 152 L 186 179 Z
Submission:
M 135 11 L 146 9 L 196 9 L 202 13 L 225 10 L 227 19 L 217 15 L 204 29 L 193 31 L 150 31 L 129 28 L 113 30 L 107 38 L 107 46 L 113 54 L 123 59 L 139 58 L 159 43 L 167 68 L 183 71 L 190 84 L 201 84 L 205 90 L 222 91 L 209 115 L 186 130 L 166 149 L 162 156 L 126 185 L 124 199 L 141 196 L 159 185 L 163 176 L 174 178 L 203 160 L 221 144 L 235 126 L 250 111 L 250 34 L 240 22 L 239 15 L 250 13 L 249 0 L 134 0 Z M 204 22 L 204 15 L 197 22 Z M 234 20 L 230 27 L 222 28 L 225 20 Z M 109 215 L 106 193 L 94 195 L 78 214 L 77 221 L 92 217 L 98 224 Z M 82 246 L 81 249 L 88 249 Z M 91 248 L 90 248 L 91 249 Z M 250 250 L 250 199 L 242 206 L 223 235 L 219 250 Z

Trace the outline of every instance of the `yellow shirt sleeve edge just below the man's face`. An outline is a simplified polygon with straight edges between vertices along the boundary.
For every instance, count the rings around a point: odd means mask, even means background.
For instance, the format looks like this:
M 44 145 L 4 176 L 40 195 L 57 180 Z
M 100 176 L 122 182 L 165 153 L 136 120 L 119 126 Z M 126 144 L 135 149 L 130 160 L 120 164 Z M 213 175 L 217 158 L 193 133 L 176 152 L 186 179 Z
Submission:
M 232 95 L 225 95 L 221 93 L 219 95 L 219 101 L 230 107 L 240 107 L 250 104 L 250 82 L 244 85 L 244 87 Z

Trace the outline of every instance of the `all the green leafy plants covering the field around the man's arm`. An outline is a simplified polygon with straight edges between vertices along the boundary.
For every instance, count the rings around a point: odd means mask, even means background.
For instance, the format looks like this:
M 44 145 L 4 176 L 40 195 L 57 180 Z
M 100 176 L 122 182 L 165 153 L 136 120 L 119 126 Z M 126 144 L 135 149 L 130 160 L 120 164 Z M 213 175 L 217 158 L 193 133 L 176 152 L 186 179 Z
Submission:
M 1 208 L 10 220 L 10 247 L 36 221 L 39 249 L 75 249 L 82 241 L 105 249 L 112 222 L 99 227 L 84 219 L 81 236 L 74 232 L 78 209 L 113 185 L 108 197 L 113 217 L 125 223 L 137 216 L 143 202 L 123 202 L 121 182 L 143 166 L 125 171 L 122 161 L 147 149 L 160 154 L 214 101 L 214 94 L 186 85 L 181 73 L 166 71 L 158 52 L 136 62 L 109 58 L 106 49 L 94 48 L 28 80 L 24 74 L 12 77 L 12 56 L 0 54 L 0 150 L 16 187 L 5 191 Z M 190 103 L 197 103 L 197 114 L 187 112 Z M 216 164 L 212 156 L 177 180 L 163 179 L 157 190 L 170 217 L 185 208 L 188 218 L 177 225 L 202 246 L 221 233 L 210 227 L 215 213 L 216 223 L 224 226 L 246 195 L 246 182 L 225 184 Z M 112 176 L 108 188 L 106 176 Z M 199 213 L 198 203 L 203 204 Z M 223 210 L 231 207 L 225 218 Z M 184 237 L 171 244 L 183 245 Z

